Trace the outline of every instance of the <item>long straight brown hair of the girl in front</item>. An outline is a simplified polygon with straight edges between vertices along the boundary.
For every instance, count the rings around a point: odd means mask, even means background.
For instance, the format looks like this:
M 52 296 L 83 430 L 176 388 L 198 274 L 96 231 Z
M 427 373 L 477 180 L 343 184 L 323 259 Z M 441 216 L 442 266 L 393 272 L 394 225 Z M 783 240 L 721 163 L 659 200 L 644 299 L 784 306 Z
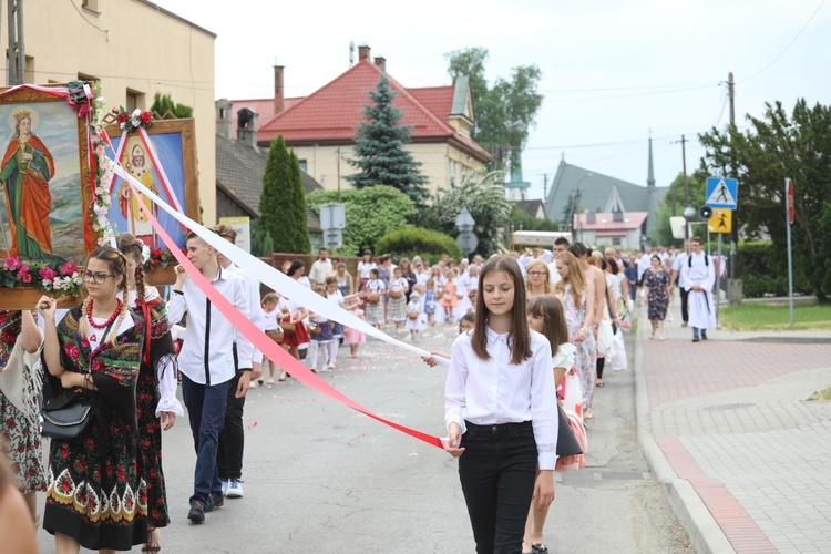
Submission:
M 511 363 L 521 363 L 532 356 L 529 320 L 525 316 L 525 280 L 520 265 L 511 256 L 493 257 L 484 263 L 479 274 L 479 294 L 476 295 L 476 321 L 473 326 L 471 346 L 482 360 L 491 359 L 488 353 L 488 307 L 484 304 L 484 278 L 492 273 L 503 271 L 514 284 L 514 305 L 511 311 Z

